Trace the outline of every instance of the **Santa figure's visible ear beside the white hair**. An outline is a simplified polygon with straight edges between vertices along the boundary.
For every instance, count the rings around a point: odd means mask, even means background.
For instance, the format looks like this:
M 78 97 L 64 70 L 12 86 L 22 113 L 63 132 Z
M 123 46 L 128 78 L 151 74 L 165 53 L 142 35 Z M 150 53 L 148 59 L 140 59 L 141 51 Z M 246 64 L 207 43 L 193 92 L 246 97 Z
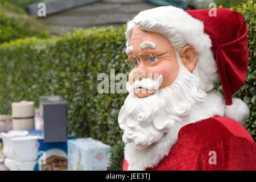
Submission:
M 185 66 L 185 68 L 188 69 L 189 72 L 193 72 L 193 70 L 196 68 L 198 54 L 196 52 L 196 49 L 192 46 L 185 46 L 180 51 L 180 59 Z

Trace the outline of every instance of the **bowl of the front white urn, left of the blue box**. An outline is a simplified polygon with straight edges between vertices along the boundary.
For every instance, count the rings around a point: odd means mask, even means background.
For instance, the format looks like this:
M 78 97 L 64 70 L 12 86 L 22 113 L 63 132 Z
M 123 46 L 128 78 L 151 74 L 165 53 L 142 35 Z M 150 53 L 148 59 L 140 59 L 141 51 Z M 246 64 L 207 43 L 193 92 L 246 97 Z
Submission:
M 11 140 L 16 162 L 34 162 L 38 159 L 38 137 L 15 137 Z

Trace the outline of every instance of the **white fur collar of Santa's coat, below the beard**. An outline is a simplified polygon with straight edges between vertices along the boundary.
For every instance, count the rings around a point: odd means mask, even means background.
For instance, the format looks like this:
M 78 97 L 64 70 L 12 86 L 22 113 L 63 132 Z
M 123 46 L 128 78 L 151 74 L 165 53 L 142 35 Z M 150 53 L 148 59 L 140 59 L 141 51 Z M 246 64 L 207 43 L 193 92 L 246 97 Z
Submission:
M 216 91 L 209 92 L 207 100 L 203 104 L 192 106 L 189 117 L 185 118 L 183 123 L 175 125 L 159 142 L 141 151 L 136 150 L 134 143 L 126 144 L 125 159 L 129 163 L 128 170 L 144 170 L 157 166 L 177 142 L 181 127 L 214 116 L 223 117 L 224 111 L 225 103 L 221 94 Z

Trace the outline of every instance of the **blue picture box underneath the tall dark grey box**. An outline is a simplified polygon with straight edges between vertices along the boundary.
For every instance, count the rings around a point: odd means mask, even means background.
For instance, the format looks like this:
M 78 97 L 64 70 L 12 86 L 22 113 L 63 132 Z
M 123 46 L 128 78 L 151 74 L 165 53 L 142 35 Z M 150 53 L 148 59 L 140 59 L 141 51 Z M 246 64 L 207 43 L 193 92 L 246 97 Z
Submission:
M 38 163 L 35 171 L 60 171 L 68 169 L 68 146 L 66 142 L 44 142 L 43 130 L 29 130 L 29 135 L 38 136 Z M 68 139 L 75 139 L 69 135 Z

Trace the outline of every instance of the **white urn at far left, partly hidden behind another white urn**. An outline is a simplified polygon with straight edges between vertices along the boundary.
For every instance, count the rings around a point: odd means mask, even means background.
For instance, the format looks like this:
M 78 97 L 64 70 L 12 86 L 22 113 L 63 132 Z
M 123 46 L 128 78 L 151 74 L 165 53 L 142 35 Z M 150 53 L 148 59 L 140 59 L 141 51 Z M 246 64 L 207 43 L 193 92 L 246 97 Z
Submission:
M 24 137 L 28 135 L 28 131 L 11 131 L 9 133 L 1 133 L 3 140 L 3 155 L 9 159 L 14 159 L 14 150 L 12 138 L 14 137 Z

